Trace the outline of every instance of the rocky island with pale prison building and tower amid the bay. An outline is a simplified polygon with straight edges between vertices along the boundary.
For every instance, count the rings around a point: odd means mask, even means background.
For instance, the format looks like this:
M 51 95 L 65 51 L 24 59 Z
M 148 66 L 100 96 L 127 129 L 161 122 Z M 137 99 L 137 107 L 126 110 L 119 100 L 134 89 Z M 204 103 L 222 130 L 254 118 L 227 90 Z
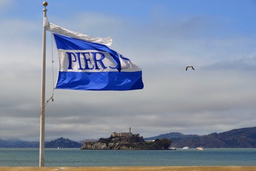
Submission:
M 145 141 L 139 133 L 133 134 L 131 128 L 129 132 L 112 132 L 109 138 L 100 138 L 96 142 L 84 142 L 80 148 L 82 150 L 157 150 L 168 149 L 171 144 L 168 139 L 156 139 Z

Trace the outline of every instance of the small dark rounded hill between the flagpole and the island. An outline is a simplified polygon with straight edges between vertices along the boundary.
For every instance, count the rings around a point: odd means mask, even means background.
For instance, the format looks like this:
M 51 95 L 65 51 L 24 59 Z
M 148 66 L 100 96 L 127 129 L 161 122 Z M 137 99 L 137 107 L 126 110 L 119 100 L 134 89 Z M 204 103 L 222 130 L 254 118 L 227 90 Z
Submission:
M 45 148 L 80 148 L 83 144 L 80 144 L 76 141 L 72 141 L 69 139 L 64 139 L 60 137 L 59 139 L 52 140 L 48 143 L 45 143 Z

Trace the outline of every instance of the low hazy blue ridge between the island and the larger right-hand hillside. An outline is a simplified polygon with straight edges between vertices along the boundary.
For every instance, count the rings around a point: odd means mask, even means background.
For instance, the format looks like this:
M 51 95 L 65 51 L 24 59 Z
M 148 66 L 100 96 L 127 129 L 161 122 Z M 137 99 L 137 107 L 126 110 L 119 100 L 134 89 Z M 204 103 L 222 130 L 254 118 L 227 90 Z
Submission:
M 155 137 L 148 137 L 144 140 L 156 140 L 156 139 L 185 139 L 189 137 L 198 137 L 198 135 L 184 135 L 180 132 L 170 132 L 165 134 L 160 134 L 159 136 Z

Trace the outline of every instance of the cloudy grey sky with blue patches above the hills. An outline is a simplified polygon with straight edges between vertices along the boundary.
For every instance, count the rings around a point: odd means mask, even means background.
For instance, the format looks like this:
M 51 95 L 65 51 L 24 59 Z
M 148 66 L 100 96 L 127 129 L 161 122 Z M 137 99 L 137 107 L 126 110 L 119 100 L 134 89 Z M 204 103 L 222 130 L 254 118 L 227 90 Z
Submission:
M 0 139 L 39 141 L 43 6 L 0 1 Z M 143 71 L 144 89 L 57 89 L 46 140 L 128 132 L 207 135 L 256 126 L 256 1 L 56 1 L 48 21 L 91 36 Z M 51 50 L 53 46 L 53 51 Z M 46 99 L 58 71 L 47 32 Z M 191 64 L 195 71 L 185 71 Z

